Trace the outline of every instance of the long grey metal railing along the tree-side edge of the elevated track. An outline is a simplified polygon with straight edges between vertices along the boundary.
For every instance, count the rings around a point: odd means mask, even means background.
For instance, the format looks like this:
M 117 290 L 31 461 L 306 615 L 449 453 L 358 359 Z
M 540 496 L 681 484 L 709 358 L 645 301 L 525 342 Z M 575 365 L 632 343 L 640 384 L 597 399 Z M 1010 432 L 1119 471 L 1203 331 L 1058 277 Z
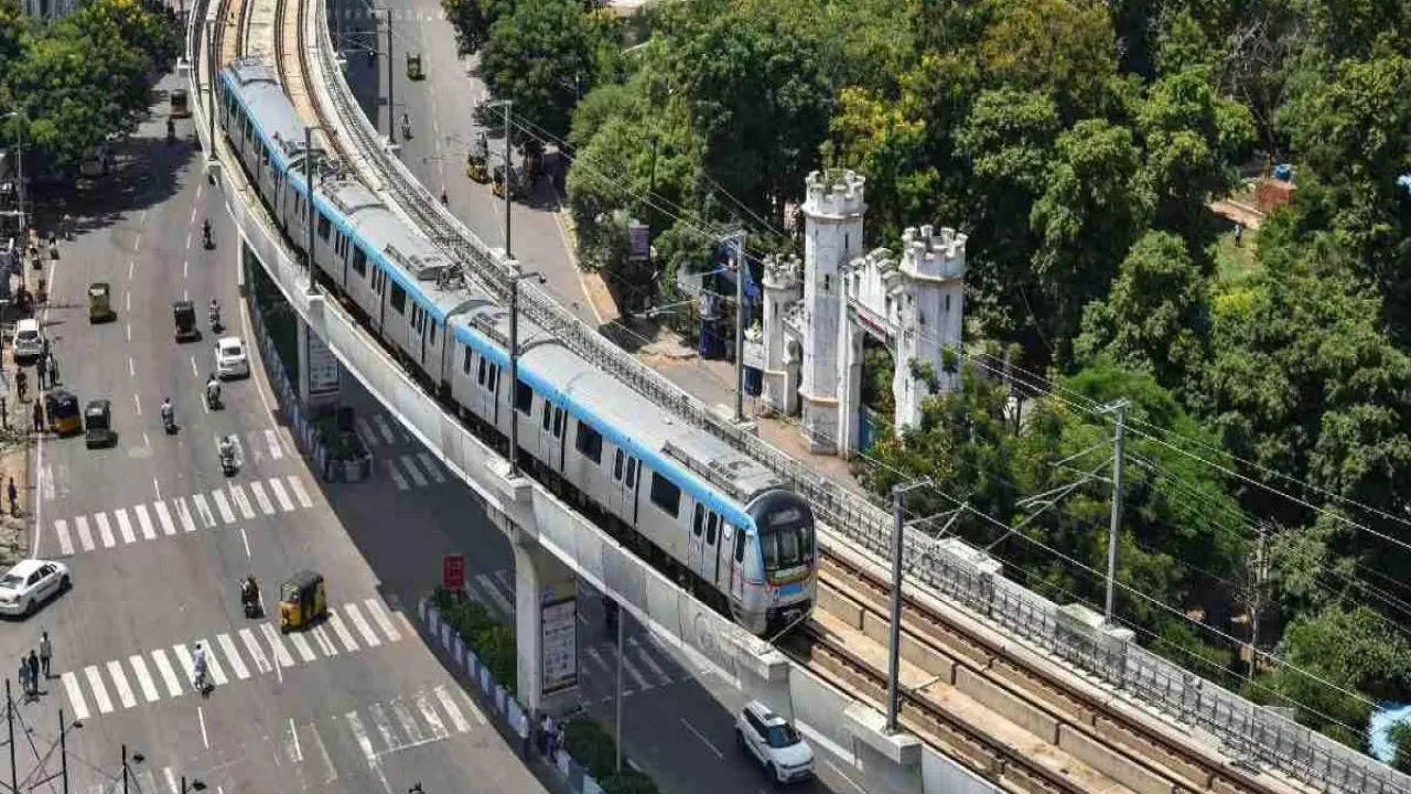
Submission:
M 473 263 L 468 277 L 490 295 L 508 304 L 509 267 L 499 251 L 491 250 L 470 229 L 442 206 L 384 146 L 333 58 L 327 18 L 317 4 L 317 57 L 322 68 L 337 79 L 327 88 L 334 110 L 371 168 L 395 195 L 401 209 L 452 257 Z M 834 531 L 885 559 L 889 554 L 892 516 L 868 499 L 830 483 L 797 461 L 734 425 L 711 415 L 700 400 L 666 380 L 646 365 L 617 348 L 547 292 L 525 284 L 519 292 L 523 316 L 563 345 L 594 362 L 636 391 L 706 428 L 732 448 L 749 455 L 779 476 L 803 497 Z M 504 340 L 501 340 L 504 342 Z M 907 530 L 903 555 L 913 581 L 988 617 L 1007 633 L 1099 678 L 1115 689 L 1171 715 L 1185 725 L 1209 732 L 1243 763 L 1261 764 L 1319 790 L 1360 794 L 1411 794 L 1411 777 L 1357 753 L 1321 733 L 1309 730 L 1233 692 L 1229 692 L 1136 644 L 1120 650 L 1095 647 L 1089 639 L 1060 630 L 1058 606 L 1007 579 L 995 579 L 934 541 Z

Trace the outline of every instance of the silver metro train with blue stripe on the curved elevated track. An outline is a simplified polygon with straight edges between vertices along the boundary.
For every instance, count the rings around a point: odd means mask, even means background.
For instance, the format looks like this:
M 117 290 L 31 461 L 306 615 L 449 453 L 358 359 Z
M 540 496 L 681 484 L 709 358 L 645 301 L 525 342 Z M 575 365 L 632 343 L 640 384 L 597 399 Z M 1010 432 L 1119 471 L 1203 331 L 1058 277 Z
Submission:
M 772 472 L 673 417 L 519 322 L 509 387 L 508 311 L 457 284 L 436 246 L 361 182 L 308 151 L 303 124 L 258 59 L 226 65 L 219 120 L 251 185 L 295 249 L 308 244 L 306 158 L 317 185 L 313 267 L 402 363 L 481 438 L 576 500 L 659 569 L 746 630 L 807 616 L 817 545 L 809 503 Z

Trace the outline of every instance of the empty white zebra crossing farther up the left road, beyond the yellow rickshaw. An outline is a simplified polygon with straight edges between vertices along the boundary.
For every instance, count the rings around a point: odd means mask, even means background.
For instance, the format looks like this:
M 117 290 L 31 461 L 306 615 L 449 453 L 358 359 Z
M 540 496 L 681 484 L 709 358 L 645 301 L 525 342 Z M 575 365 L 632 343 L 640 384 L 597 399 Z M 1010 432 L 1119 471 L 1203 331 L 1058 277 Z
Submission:
M 56 519 L 51 528 L 59 544 L 58 555 L 73 557 L 100 547 L 109 550 L 120 543 L 130 545 L 138 540 L 151 541 L 200 528 L 214 530 L 237 520 L 250 521 L 257 516 L 278 516 L 309 507 L 313 507 L 313 499 L 303 479 L 285 475 L 244 483 L 231 480 L 224 487 L 209 492 L 119 507 L 111 510 L 111 516 L 109 511 L 99 511 Z

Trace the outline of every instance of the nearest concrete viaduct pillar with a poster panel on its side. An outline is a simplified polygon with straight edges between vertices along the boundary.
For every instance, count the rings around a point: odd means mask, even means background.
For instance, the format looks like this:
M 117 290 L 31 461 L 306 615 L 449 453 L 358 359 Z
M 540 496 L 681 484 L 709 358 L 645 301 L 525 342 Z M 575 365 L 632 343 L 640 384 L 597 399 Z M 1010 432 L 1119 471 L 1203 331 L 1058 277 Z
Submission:
M 579 687 L 579 600 L 573 569 L 515 528 L 515 644 L 519 698 L 531 718 L 562 715 Z

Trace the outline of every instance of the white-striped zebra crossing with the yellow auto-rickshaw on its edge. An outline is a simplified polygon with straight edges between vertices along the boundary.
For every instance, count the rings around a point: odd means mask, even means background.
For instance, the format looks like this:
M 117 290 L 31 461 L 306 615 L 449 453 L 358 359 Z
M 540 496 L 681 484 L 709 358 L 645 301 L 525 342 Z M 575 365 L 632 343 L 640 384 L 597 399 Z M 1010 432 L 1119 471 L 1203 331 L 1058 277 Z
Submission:
M 353 624 L 356 636 L 344 619 Z M 82 670 L 69 670 L 59 675 L 59 681 L 69 701 L 71 713 L 75 719 L 87 719 L 93 709 L 103 715 L 134 708 L 138 704 L 138 694 L 143 704 L 152 704 L 193 691 L 190 682 L 196 674 L 193 653 L 198 646 L 206 650 L 212 681 L 216 687 L 223 687 L 230 681 L 246 681 L 274 672 L 277 667 L 286 670 L 340 653 L 398 643 L 411 632 L 411 626 L 399 612 L 389 612 L 378 599 L 367 598 L 361 602 L 330 606 L 327 622 L 306 632 L 281 634 L 275 623 L 262 622 L 234 632 L 216 633 L 214 643 L 209 637 L 196 637 L 189 643 L 152 648 L 145 654 L 131 654 L 102 664 L 89 664 Z M 285 643 L 293 646 L 299 661 L 295 661 Z

